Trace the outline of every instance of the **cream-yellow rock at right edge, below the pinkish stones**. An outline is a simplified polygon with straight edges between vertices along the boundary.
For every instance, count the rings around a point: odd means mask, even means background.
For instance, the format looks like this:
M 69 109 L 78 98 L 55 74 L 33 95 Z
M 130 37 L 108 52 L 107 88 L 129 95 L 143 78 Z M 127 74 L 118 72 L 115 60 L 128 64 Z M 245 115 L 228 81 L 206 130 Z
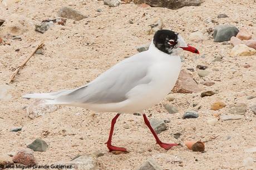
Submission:
M 252 56 L 256 53 L 256 49 L 250 48 L 245 44 L 238 44 L 231 50 L 232 56 Z

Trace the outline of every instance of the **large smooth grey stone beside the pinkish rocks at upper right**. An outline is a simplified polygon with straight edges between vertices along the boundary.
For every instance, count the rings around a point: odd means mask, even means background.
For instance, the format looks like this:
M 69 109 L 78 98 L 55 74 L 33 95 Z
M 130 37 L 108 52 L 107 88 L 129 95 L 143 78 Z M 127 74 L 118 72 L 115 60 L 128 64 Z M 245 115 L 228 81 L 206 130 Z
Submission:
M 214 28 L 213 38 L 214 42 L 230 41 L 231 37 L 237 36 L 239 30 L 235 26 L 220 25 Z

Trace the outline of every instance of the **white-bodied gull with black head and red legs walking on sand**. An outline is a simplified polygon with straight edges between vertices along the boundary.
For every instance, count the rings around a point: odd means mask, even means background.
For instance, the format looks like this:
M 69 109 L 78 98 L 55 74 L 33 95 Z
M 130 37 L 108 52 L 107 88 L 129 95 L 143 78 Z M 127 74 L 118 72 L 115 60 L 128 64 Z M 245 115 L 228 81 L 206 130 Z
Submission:
M 179 54 L 183 50 L 199 54 L 180 34 L 162 29 L 154 34 L 147 51 L 115 64 L 85 86 L 52 93 L 29 93 L 22 97 L 40 98 L 45 104 L 82 107 L 95 112 L 116 112 L 106 142 L 110 152 L 127 152 L 111 143 L 117 118 L 122 113 L 140 112 L 156 143 L 168 150 L 178 144 L 161 142 L 144 110 L 159 103 L 173 89 L 181 70 Z

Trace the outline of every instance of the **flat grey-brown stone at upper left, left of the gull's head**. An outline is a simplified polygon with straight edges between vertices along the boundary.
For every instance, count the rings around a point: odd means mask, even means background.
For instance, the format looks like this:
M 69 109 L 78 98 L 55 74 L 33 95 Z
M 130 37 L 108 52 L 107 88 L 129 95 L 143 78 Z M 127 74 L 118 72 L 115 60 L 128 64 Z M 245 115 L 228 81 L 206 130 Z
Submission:
M 73 19 L 75 21 L 80 21 L 81 19 L 88 18 L 88 16 L 83 15 L 79 11 L 72 9 L 70 7 L 63 7 L 58 11 L 58 17 Z

